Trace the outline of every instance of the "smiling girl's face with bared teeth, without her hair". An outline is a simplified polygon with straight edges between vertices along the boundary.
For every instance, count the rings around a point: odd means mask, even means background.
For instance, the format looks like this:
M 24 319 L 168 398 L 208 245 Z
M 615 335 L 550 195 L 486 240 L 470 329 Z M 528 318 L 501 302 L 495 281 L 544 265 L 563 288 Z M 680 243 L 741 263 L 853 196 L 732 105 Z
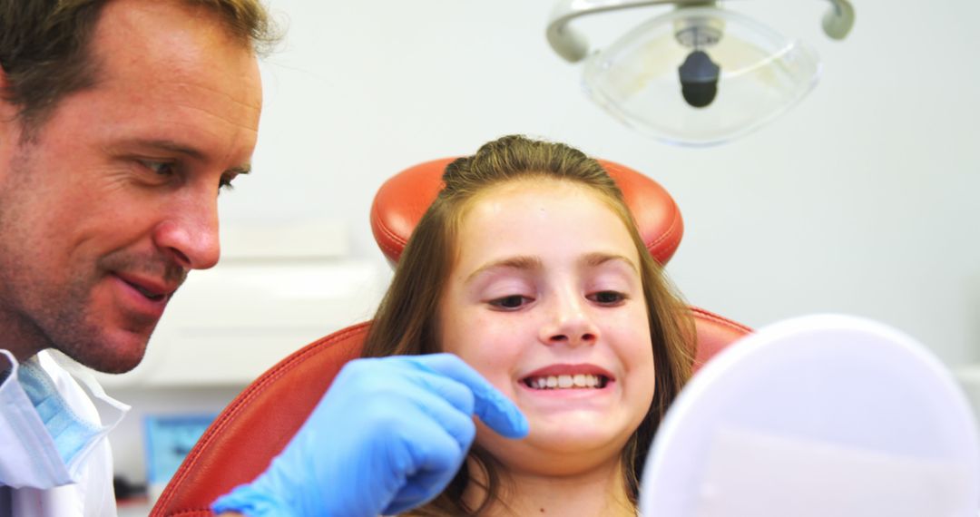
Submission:
M 590 188 L 518 180 L 462 221 L 440 306 L 443 350 L 514 400 L 530 434 L 479 426 L 510 469 L 551 474 L 618 461 L 654 397 L 638 252 Z

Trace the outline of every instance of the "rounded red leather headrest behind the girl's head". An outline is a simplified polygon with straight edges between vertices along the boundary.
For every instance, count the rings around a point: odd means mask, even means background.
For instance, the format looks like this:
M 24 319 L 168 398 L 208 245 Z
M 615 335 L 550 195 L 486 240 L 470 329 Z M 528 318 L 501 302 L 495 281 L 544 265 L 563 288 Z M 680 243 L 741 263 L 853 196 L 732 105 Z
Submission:
M 442 188 L 442 173 L 455 158 L 409 167 L 381 185 L 370 211 L 370 227 L 381 253 L 398 262 L 422 213 Z M 625 165 L 599 160 L 622 191 L 650 254 L 665 264 L 680 244 L 684 222 L 673 198 L 653 179 Z

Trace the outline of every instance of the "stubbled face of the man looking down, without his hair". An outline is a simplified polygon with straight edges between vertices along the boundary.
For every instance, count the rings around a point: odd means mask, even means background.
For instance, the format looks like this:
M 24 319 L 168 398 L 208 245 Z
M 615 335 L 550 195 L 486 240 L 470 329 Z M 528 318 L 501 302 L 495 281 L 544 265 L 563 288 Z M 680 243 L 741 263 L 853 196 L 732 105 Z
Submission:
M 187 271 L 218 261 L 219 189 L 247 168 L 262 92 L 254 54 L 177 1 L 110 2 L 91 50 L 96 85 L 32 140 L 0 101 L 0 345 L 123 372 Z

